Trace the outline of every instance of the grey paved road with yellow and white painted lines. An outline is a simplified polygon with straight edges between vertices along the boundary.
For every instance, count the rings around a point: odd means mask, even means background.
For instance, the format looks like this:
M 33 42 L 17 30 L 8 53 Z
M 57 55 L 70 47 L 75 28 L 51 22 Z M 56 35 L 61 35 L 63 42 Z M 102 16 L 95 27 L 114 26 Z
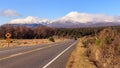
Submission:
M 0 68 L 65 68 L 77 41 L 0 49 Z

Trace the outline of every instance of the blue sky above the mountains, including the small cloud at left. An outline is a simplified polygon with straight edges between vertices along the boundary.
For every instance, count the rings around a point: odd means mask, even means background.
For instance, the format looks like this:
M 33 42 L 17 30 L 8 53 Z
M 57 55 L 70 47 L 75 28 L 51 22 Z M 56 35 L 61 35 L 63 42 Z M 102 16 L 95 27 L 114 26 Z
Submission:
M 0 0 L 0 24 L 36 16 L 56 19 L 72 11 L 120 15 L 120 0 Z

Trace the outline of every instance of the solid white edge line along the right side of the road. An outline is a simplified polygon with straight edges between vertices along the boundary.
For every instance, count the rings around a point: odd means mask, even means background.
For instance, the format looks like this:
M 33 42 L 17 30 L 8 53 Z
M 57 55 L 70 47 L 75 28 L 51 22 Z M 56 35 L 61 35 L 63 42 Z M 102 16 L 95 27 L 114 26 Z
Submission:
M 58 54 L 55 58 L 53 58 L 50 62 L 48 62 L 45 66 L 42 68 L 47 68 L 51 63 L 53 63 L 57 58 L 59 58 L 63 53 L 65 53 L 67 50 L 69 50 L 72 46 L 74 46 L 77 42 L 74 42 L 69 47 L 67 47 L 64 51 L 62 51 L 60 54 Z

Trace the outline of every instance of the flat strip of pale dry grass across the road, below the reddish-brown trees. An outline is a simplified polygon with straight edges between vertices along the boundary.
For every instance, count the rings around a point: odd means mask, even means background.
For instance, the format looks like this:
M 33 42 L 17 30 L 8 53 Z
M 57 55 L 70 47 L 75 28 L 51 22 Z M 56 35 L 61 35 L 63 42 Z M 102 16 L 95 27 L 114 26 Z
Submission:
M 55 42 L 64 41 L 66 39 L 55 39 Z M 12 42 L 10 43 L 10 47 L 15 46 L 34 46 L 38 44 L 49 44 L 53 43 L 49 41 L 49 39 L 12 39 Z M 6 48 L 8 47 L 8 44 L 6 43 L 6 40 L 0 40 L 0 48 Z

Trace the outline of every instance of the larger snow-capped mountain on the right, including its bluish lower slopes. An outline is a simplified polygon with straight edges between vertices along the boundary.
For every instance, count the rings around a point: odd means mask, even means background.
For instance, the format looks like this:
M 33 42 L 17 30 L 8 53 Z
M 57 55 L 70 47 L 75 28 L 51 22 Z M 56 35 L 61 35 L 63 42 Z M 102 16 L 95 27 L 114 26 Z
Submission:
M 70 12 L 64 17 L 53 20 L 50 24 L 50 26 L 53 27 L 91 27 L 112 25 L 120 25 L 119 16 L 79 12 Z

